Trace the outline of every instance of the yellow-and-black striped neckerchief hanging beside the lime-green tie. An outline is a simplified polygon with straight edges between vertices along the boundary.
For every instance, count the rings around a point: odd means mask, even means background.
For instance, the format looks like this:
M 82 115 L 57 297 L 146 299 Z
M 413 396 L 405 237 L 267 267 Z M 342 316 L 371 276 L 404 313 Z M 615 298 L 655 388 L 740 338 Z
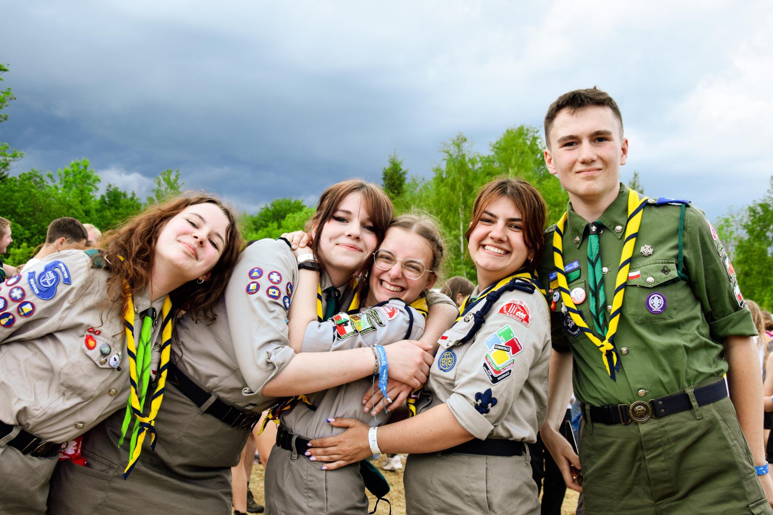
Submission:
M 126 479 L 131 470 L 135 468 L 137 459 L 142 452 L 142 442 L 145 441 L 145 434 L 149 431 L 151 433 L 151 446 L 155 450 L 155 416 L 158 415 L 158 408 L 161 408 L 161 401 L 164 397 L 164 387 L 166 385 L 166 373 L 169 370 L 169 354 L 172 352 L 172 300 L 167 295 L 164 299 L 164 305 L 161 310 L 162 328 L 161 328 L 161 361 L 158 364 L 158 385 L 155 388 L 153 397 L 151 399 L 150 414 L 147 417 L 142 416 L 142 408 L 137 395 L 137 346 L 135 344 L 135 335 L 133 332 L 133 322 L 135 320 L 135 307 L 131 300 L 131 295 L 128 296 L 126 303 L 126 313 L 124 314 L 125 320 L 125 332 L 126 332 L 126 354 L 129 357 L 129 378 L 131 384 L 131 395 L 129 402 L 131 403 L 131 411 L 134 412 L 138 428 L 135 427 L 135 432 L 132 432 L 131 439 L 136 443 L 133 446 L 133 450 L 129 456 L 129 462 L 124 469 L 124 479 Z M 145 374 L 150 374 L 150 370 L 143 371 Z M 137 432 L 138 431 L 138 432 Z

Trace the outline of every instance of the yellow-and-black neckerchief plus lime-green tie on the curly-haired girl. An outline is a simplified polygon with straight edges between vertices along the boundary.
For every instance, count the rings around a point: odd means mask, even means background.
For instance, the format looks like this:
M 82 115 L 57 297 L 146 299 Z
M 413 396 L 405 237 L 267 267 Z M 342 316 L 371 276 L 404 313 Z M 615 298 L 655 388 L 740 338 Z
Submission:
M 124 479 L 126 479 L 131 470 L 135 468 L 137 460 L 142 452 L 142 442 L 145 441 L 145 434 L 151 433 L 151 449 L 155 450 L 155 417 L 158 415 L 158 409 L 161 408 L 161 401 L 164 397 L 164 388 L 166 385 L 166 373 L 169 369 L 169 354 L 172 352 L 172 300 L 167 295 L 161 311 L 162 316 L 162 344 L 161 361 L 158 366 L 158 385 L 151 398 L 151 409 L 147 417 L 142 415 L 142 408 L 145 405 L 145 395 L 148 392 L 148 382 L 150 381 L 150 362 L 151 345 L 150 338 L 152 334 L 153 317 L 145 315 L 142 320 L 142 329 L 140 333 L 139 348 L 135 345 L 134 319 L 135 307 L 131 300 L 131 295 L 126 301 L 126 313 L 124 314 L 124 329 L 126 332 L 126 354 L 129 357 L 129 383 L 131 385 L 131 394 L 126 406 L 126 415 L 121 425 L 121 439 L 118 440 L 118 446 L 124 443 L 131 415 L 135 415 L 135 427 L 131 432 L 131 442 L 129 444 L 129 462 L 124 469 Z M 153 310 L 153 308 L 151 308 Z M 139 390 L 139 392 L 138 392 Z

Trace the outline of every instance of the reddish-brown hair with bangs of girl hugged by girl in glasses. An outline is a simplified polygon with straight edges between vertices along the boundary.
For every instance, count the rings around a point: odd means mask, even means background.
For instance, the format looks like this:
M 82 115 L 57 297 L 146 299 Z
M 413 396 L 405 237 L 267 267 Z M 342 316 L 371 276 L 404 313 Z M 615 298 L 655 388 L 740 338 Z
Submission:
M 332 219 L 333 213 L 339 208 L 346 195 L 352 193 L 359 193 L 363 195 L 365 202 L 365 208 L 368 210 L 370 222 L 373 223 L 373 229 L 376 234 L 376 246 L 380 245 L 386 234 L 386 228 L 389 226 L 392 220 L 393 208 L 392 201 L 386 196 L 383 189 L 379 185 L 373 184 L 373 182 L 366 182 L 362 179 L 349 179 L 348 181 L 341 181 L 322 191 L 322 196 L 319 197 L 319 203 L 317 204 L 317 211 L 314 216 L 306 222 L 306 232 L 312 232 L 312 229 L 316 228 L 314 241 L 312 242 L 312 252 L 316 256 L 316 259 L 320 266 L 322 266 L 322 272 L 325 272 L 325 259 L 319 255 L 319 235 L 322 233 L 322 228 L 329 219 Z M 357 276 L 366 276 L 370 266 L 373 264 L 373 256 L 369 256 L 366 262 L 363 263 L 363 267 L 356 273 Z M 365 281 L 360 281 L 357 286 L 357 292 L 362 293 L 362 289 Z M 363 298 L 363 296 L 360 296 Z

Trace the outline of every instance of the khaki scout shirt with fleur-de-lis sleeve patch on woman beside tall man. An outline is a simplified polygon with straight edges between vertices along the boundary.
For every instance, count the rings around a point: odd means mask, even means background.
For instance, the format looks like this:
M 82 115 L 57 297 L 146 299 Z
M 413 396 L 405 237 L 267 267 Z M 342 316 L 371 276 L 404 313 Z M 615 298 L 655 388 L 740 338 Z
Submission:
M 479 294 L 475 287 L 472 298 Z M 547 412 L 547 304 L 538 290 L 504 292 L 475 337 L 460 344 L 475 322 L 469 313 L 484 305 L 482 300 L 472 307 L 438 341 L 440 348 L 417 409 L 446 403 L 477 439 L 536 442 Z

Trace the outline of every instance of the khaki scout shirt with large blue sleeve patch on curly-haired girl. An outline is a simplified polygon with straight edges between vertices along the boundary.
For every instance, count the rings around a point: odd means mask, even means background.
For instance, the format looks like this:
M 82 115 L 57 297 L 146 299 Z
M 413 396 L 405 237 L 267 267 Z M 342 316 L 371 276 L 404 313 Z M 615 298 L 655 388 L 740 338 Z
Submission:
M 66 250 L 0 285 L 2 422 L 66 442 L 125 408 L 130 389 L 124 313 L 106 309 L 109 276 L 92 266 L 86 252 Z M 147 295 L 133 301 L 139 342 L 151 303 Z M 159 317 L 163 301 L 152 303 Z M 158 340 L 161 326 L 155 324 L 151 341 Z M 110 348 L 102 354 L 105 344 Z

